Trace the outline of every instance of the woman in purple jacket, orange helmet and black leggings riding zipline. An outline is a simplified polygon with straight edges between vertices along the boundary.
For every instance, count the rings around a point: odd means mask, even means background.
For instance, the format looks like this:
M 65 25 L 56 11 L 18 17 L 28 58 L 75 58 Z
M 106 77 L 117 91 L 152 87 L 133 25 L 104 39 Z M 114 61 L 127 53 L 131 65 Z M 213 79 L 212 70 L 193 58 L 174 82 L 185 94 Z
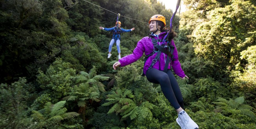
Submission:
M 143 55 L 143 52 L 145 52 L 145 55 L 149 55 L 154 51 L 153 55 L 148 57 L 148 59 L 145 61 L 143 73 L 146 75 L 149 82 L 160 84 L 164 96 L 168 99 L 168 101 L 178 113 L 178 118 L 176 119 L 176 121 L 181 126 L 181 128 L 196 129 L 198 128 L 198 125 L 184 111 L 185 108 L 183 103 L 183 97 L 179 89 L 178 82 L 174 77 L 173 73 L 171 72 L 170 66 L 172 66 L 173 71 L 180 78 L 188 78 L 184 74 L 184 71 L 182 70 L 181 64 L 178 60 L 178 52 L 173 41 L 173 37 L 175 36 L 175 34 L 171 32 L 167 37 L 168 41 L 170 41 L 170 46 L 174 47 L 171 59 L 165 52 L 161 52 L 160 55 L 157 55 L 159 53 L 159 49 L 156 48 L 156 44 L 153 44 L 154 41 L 157 41 L 157 44 L 159 44 L 159 46 L 163 46 L 165 50 L 168 50 L 168 44 L 162 41 L 164 36 L 167 34 L 165 31 L 163 31 L 165 24 L 166 23 L 164 16 L 152 16 L 149 20 L 149 30 L 150 32 L 152 32 L 151 36 L 144 37 L 140 41 L 138 41 L 133 53 L 121 58 L 118 62 L 114 63 L 113 68 L 116 70 L 116 68 L 119 66 L 123 67 L 129 65 L 137 61 Z M 153 38 L 156 40 L 152 41 Z M 159 57 L 157 58 L 157 60 L 155 59 L 156 56 Z M 169 59 L 167 60 L 167 58 L 172 60 L 171 63 L 169 63 Z M 152 63 L 152 61 L 154 63 Z M 165 66 L 167 61 L 168 66 Z M 166 69 L 165 67 L 167 68 L 166 72 L 164 72 L 164 69 Z

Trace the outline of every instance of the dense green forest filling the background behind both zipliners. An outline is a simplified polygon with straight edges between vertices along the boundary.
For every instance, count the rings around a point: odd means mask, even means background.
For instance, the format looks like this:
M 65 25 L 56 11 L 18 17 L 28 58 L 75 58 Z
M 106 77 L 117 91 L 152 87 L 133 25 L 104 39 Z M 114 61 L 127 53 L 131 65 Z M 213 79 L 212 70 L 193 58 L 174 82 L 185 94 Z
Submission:
M 149 35 L 151 16 L 168 28 L 173 11 L 157 0 L 86 1 L 0 0 L 0 127 L 180 128 L 160 85 L 141 76 L 144 57 L 113 70 L 112 33 L 99 29 L 115 26 L 115 13 L 135 27 L 121 34 L 123 57 Z M 200 128 L 255 128 L 256 1 L 183 3 L 173 30 L 186 112 Z

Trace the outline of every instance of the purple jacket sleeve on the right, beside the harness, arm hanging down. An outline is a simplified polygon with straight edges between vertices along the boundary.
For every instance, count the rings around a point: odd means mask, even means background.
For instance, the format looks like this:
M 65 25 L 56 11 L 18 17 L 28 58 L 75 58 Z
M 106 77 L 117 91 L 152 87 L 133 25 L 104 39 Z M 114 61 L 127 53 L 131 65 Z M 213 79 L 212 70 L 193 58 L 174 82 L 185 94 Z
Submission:
M 185 73 L 181 68 L 181 63 L 179 62 L 178 51 L 173 40 L 171 40 L 171 44 L 174 46 L 174 51 L 173 51 L 174 60 L 171 61 L 171 67 L 173 68 L 173 71 L 176 75 L 178 75 L 179 77 L 185 77 Z

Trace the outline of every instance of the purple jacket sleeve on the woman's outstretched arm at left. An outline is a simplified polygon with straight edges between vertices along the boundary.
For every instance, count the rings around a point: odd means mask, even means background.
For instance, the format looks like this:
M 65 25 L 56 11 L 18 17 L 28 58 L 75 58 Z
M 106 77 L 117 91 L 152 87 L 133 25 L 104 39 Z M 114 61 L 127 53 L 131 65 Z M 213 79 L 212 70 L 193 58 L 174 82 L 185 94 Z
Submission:
M 118 60 L 121 63 L 120 67 L 130 65 L 131 63 L 137 61 L 143 55 L 143 53 L 145 52 L 145 47 L 143 46 L 143 43 L 145 43 L 144 38 L 138 41 L 137 46 L 133 50 L 132 54 L 122 57 L 120 60 Z

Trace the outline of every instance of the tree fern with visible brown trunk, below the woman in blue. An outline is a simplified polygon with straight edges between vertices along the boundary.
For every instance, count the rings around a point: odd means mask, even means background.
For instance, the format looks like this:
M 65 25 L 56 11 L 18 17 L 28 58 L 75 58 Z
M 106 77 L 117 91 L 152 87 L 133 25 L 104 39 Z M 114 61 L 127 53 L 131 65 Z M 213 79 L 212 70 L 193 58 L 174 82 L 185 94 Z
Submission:
M 109 77 L 104 77 L 103 75 L 97 75 L 96 67 L 93 68 L 89 73 L 81 71 L 80 75 L 72 77 L 72 80 L 76 85 L 69 93 L 69 96 L 64 97 L 64 100 L 75 101 L 79 107 L 79 112 L 81 112 L 83 125 L 86 125 L 85 121 L 85 110 L 86 105 L 93 101 L 100 101 L 100 92 L 105 92 L 104 85 L 99 81 L 108 80 Z

